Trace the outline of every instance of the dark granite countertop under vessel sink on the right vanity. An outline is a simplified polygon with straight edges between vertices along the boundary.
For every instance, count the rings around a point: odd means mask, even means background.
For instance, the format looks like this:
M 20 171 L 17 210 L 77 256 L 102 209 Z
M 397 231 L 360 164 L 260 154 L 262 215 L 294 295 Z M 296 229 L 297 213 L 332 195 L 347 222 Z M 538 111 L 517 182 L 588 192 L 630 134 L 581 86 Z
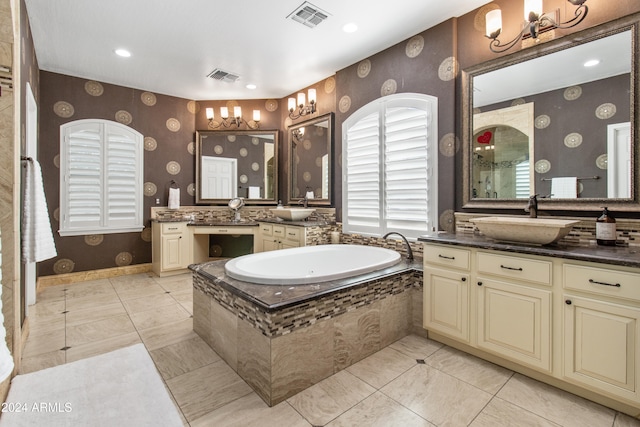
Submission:
M 640 248 L 633 246 L 570 246 L 563 244 L 532 246 L 502 243 L 472 233 L 438 233 L 432 236 L 420 236 L 418 240 L 421 242 L 469 246 L 479 249 L 491 249 L 640 268 Z

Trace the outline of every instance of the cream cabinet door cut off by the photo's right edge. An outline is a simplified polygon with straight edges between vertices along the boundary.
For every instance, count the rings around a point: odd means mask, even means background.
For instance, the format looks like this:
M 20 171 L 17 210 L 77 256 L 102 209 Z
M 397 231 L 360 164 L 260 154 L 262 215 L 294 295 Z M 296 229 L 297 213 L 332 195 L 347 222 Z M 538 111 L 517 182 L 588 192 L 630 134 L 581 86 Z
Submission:
M 565 378 L 640 402 L 639 320 L 636 308 L 565 295 Z

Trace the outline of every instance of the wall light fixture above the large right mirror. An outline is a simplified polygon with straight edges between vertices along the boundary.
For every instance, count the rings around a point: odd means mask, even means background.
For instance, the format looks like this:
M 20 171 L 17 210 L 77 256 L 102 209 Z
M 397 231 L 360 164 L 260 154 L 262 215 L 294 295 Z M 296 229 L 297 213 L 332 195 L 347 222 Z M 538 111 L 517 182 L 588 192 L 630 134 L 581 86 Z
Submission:
M 524 19 L 520 33 L 508 43 L 502 44 L 498 40 L 498 36 L 502 32 L 502 11 L 494 9 L 487 13 L 486 16 L 486 34 L 491 39 L 489 49 L 495 53 L 501 53 L 511 49 L 522 38 L 531 36 L 538 38 L 540 32 L 551 30 L 554 28 L 571 28 L 581 23 L 587 16 L 589 8 L 585 5 L 587 0 L 567 0 L 576 7 L 573 18 L 566 22 L 560 22 L 560 12 L 556 11 L 555 19 L 549 14 L 542 13 L 542 0 L 524 0 Z M 528 34 L 527 34 L 528 33 Z

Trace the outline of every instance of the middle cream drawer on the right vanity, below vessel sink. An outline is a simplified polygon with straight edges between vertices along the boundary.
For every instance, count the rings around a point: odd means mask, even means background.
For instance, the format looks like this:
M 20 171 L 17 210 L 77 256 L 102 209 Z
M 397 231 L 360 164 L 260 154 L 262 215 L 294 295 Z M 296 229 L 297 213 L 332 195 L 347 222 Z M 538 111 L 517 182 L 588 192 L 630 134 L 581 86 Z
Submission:
M 549 261 L 478 252 L 478 273 L 550 285 L 551 270 Z

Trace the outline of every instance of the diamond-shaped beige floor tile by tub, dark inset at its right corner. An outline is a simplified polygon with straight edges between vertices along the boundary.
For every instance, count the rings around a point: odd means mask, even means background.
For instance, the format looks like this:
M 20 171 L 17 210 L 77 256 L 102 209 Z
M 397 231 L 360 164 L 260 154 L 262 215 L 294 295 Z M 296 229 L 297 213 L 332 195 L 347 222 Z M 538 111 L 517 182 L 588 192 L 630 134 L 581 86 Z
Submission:
M 415 364 L 415 359 L 387 347 L 349 366 L 347 371 L 379 389 L 411 369 Z

